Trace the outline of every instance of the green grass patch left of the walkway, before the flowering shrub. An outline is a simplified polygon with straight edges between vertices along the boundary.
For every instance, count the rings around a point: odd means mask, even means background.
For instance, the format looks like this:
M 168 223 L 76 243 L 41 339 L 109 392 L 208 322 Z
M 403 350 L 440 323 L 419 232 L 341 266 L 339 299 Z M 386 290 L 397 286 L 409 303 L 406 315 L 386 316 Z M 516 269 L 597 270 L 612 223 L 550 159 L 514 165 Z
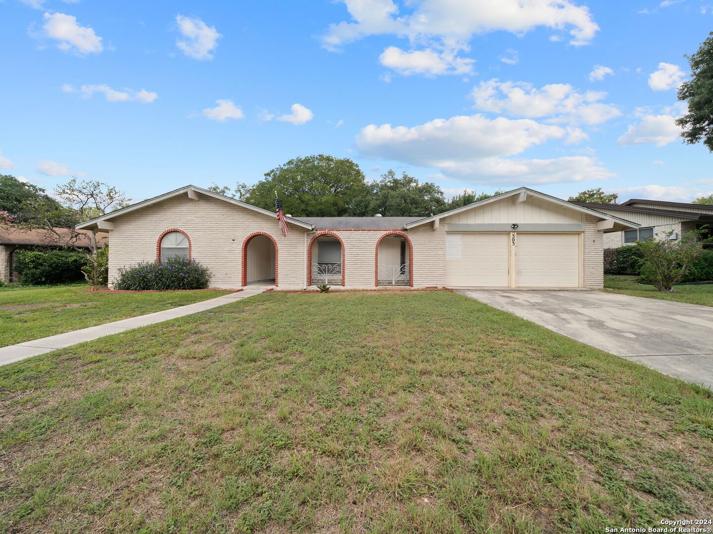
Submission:
M 89 286 L 0 288 L 0 347 L 215 298 L 226 291 L 88 293 Z

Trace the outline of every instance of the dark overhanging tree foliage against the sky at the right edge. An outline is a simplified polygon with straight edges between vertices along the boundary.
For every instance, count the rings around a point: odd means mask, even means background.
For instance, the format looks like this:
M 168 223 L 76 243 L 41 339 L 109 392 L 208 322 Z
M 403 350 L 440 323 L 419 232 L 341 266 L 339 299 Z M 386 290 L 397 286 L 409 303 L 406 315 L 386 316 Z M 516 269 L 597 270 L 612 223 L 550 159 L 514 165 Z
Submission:
M 699 141 L 713 152 L 713 31 L 692 56 L 685 56 L 691 78 L 678 88 L 678 99 L 688 103 L 688 111 L 676 119 L 683 128 L 681 137 L 687 145 Z

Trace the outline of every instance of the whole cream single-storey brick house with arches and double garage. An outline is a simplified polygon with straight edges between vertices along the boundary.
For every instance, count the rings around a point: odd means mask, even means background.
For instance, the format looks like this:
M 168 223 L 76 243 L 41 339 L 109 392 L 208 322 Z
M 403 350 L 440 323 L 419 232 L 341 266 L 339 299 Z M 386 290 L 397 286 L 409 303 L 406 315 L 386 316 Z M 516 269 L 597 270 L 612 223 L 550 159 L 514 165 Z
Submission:
M 619 216 L 522 187 L 429 217 L 287 217 L 194 186 L 79 226 L 111 236 L 118 269 L 168 256 L 210 269 L 210 285 L 601 288 L 606 232 Z

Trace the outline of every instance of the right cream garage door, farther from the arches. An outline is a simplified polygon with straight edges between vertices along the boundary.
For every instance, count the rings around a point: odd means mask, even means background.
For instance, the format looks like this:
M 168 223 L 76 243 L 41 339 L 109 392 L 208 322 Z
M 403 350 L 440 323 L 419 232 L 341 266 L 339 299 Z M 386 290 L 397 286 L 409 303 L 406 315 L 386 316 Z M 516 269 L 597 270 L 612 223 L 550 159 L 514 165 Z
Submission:
M 518 288 L 579 286 L 578 234 L 517 234 Z

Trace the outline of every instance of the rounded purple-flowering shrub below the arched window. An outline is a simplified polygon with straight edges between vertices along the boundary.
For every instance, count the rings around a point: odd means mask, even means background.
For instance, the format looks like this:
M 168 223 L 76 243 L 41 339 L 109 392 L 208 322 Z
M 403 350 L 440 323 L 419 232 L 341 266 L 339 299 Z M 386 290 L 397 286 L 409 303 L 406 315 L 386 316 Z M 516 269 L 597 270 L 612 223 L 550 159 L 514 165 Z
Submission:
M 210 271 L 198 261 L 168 258 L 120 268 L 114 288 L 135 291 L 205 289 L 208 287 L 208 281 Z

